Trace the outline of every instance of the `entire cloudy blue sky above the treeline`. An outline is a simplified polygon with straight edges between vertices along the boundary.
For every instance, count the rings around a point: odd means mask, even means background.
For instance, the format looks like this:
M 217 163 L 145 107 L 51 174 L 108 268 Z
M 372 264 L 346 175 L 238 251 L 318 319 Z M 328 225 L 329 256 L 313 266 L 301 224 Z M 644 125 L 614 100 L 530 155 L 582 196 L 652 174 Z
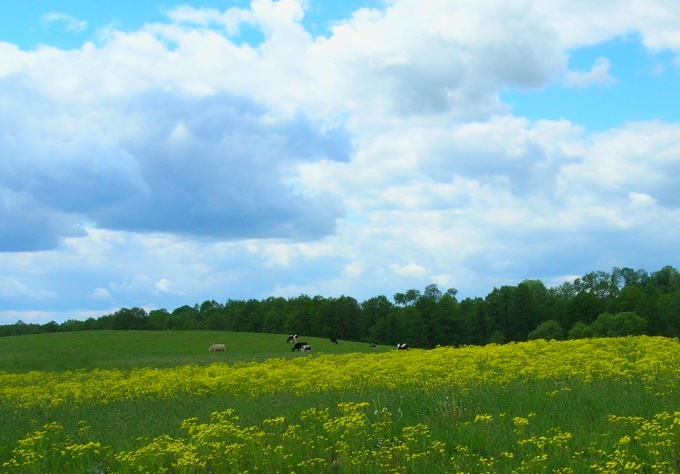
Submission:
M 0 7 L 0 324 L 680 266 L 676 0 Z

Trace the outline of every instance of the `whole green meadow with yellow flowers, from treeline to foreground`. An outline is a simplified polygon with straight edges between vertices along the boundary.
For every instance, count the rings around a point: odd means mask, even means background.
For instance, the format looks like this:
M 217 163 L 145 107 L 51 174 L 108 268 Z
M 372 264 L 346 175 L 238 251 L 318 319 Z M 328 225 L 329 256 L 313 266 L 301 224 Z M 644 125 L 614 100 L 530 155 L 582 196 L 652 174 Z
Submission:
M 2 472 L 677 472 L 680 344 L 0 339 Z M 213 342 L 227 344 L 211 354 Z M 22 359 L 23 358 L 23 359 Z

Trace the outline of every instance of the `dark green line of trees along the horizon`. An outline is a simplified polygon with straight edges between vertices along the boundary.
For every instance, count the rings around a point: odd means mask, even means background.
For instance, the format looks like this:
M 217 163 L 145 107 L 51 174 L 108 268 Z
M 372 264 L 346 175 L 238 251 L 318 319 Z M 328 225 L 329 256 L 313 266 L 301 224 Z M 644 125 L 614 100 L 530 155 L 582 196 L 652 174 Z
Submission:
M 540 280 L 494 288 L 486 298 L 458 300 L 436 285 L 392 300 L 350 296 L 205 301 L 173 311 L 122 308 L 113 314 L 61 324 L 0 326 L 0 336 L 58 331 L 213 330 L 334 337 L 410 347 L 483 345 L 528 339 L 625 335 L 680 337 L 680 273 L 666 266 L 592 272 L 546 288 Z

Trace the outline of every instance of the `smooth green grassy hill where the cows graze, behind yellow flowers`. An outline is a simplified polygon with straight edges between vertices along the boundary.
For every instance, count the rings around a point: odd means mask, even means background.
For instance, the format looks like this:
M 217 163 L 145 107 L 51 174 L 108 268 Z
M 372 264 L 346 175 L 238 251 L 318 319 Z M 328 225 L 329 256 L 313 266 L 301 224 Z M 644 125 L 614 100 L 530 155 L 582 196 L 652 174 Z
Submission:
M 384 352 L 390 346 L 303 337 L 312 351 L 291 352 L 288 335 L 224 331 L 82 331 L 0 338 L 0 371 L 132 369 L 207 365 L 214 362 L 250 362 L 270 358 L 309 357 L 318 354 Z M 226 345 L 225 353 L 211 353 L 213 343 Z

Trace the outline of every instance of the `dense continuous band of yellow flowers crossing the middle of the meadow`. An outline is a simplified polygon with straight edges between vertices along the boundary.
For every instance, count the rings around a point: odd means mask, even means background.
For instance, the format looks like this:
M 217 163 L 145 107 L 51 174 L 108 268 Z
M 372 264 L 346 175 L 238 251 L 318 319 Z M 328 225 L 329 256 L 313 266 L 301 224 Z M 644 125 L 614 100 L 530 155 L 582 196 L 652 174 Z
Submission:
M 680 345 L 666 338 L 635 337 L 564 342 L 532 341 L 486 347 L 382 354 L 326 355 L 262 363 L 181 366 L 169 369 L 0 372 L 0 399 L 19 407 L 108 403 L 224 393 L 257 397 L 288 392 L 355 392 L 370 388 L 441 387 L 464 393 L 491 384 L 527 380 L 641 379 L 659 394 L 675 391 Z

